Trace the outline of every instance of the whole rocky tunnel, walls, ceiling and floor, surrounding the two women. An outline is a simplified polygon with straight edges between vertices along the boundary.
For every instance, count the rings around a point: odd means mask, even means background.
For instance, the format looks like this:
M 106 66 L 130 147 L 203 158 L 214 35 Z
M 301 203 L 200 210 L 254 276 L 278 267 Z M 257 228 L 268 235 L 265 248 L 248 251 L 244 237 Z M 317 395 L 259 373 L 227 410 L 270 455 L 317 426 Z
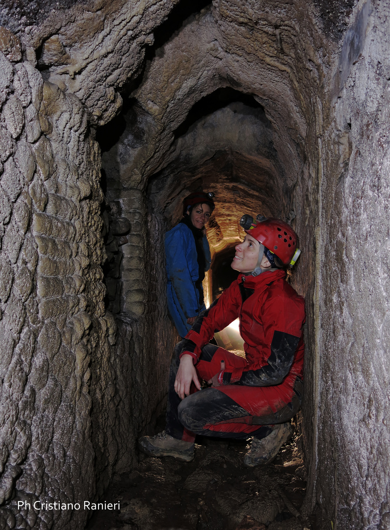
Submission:
M 0 526 L 386 530 L 388 2 L 3 4 Z M 298 234 L 304 397 L 269 466 L 137 447 L 164 429 L 164 235 L 195 191 L 207 305 L 243 214 Z

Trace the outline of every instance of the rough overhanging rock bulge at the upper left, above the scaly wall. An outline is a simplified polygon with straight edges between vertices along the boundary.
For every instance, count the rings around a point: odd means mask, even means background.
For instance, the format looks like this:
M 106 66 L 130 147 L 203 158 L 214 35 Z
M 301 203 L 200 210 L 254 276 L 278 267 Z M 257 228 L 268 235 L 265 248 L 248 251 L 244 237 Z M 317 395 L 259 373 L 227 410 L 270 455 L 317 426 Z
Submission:
M 20 31 L 23 20 L 17 26 L 27 52 L 34 56 L 38 51 L 43 77 L 76 94 L 92 123 L 103 125 L 121 107 L 119 89 L 139 73 L 145 47 L 154 42 L 152 30 L 177 2 L 98 0 L 69 10 L 56 4 L 41 24 L 29 25 L 25 31 Z

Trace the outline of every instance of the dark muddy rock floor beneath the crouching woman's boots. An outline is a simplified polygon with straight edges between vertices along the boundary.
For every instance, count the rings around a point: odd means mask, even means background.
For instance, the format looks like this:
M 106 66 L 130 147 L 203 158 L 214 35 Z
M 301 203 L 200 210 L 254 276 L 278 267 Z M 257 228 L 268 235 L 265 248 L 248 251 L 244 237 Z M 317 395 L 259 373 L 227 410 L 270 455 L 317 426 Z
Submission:
M 252 469 L 242 464 L 247 447 L 201 438 L 190 463 L 141 455 L 105 499 L 120 511 L 96 511 L 88 530 L 315 530 L 299 512 L 306 484 L 294 441 Z

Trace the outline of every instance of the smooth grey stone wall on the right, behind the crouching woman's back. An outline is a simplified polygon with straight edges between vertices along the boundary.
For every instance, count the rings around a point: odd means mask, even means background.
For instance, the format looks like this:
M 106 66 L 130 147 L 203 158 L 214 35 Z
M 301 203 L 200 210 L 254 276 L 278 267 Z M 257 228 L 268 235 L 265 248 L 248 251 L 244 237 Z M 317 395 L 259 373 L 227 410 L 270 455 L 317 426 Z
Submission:
M 356 7 L 329 92 L 318 336 L 324 528 L 390 527 L 389 7 Z

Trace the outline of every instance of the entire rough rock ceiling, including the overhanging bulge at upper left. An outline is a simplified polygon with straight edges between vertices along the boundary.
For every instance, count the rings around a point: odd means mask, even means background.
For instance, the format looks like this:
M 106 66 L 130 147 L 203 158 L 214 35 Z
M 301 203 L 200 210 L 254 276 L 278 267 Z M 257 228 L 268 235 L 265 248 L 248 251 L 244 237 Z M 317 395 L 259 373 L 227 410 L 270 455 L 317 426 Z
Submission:
M 237 237 L 227 226 L 244 209 L 288 215 L 351 2 L 69 0 L 66 7 L 46 2 L 43 20 L 25 4 L 20 36 L 45 80 L 76 94 L 92 125 L 109 124 L 112 145 L 101 143 L 111 199 L 121 189 L 147 191 L 169 226 L 188 192 L 215 191 L 215 250 Z

